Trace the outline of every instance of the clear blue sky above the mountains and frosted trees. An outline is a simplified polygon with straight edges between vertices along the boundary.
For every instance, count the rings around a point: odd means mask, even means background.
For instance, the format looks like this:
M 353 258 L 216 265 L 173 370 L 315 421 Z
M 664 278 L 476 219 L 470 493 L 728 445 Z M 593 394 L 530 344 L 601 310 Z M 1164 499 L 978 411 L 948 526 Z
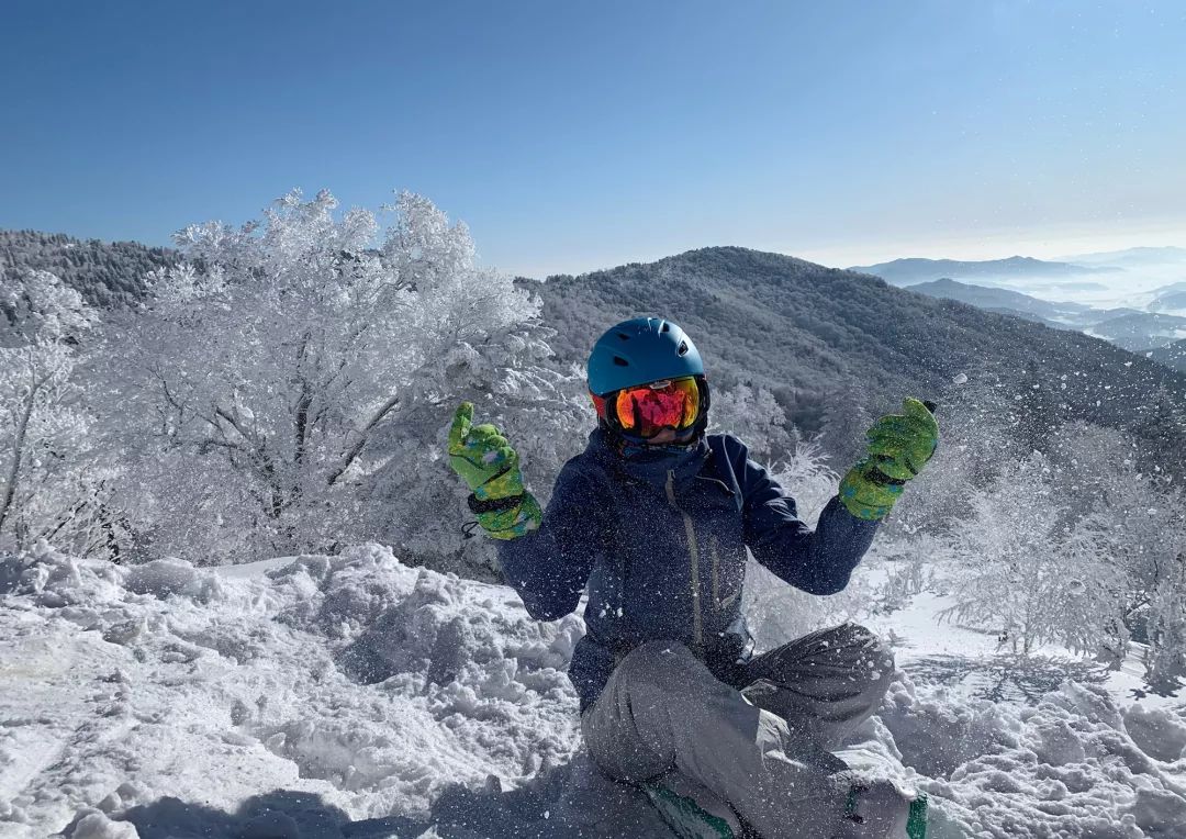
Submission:
M 529 275 L 1186 244 L 1186 4 L 5 4 L 0 228 L 432 198 Z

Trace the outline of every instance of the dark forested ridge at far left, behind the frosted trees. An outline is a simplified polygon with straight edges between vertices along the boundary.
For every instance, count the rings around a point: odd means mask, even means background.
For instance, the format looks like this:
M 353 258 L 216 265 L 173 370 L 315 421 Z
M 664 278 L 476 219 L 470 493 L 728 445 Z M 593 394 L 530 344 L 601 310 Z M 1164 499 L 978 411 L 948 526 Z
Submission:
M 82 241 L 62 233 L 0 230 L 0 281 L 30 268 L 57 274 L 93 306 L 127 305 L 145 294 L 145 275 L 177 261 L 170 248 Z

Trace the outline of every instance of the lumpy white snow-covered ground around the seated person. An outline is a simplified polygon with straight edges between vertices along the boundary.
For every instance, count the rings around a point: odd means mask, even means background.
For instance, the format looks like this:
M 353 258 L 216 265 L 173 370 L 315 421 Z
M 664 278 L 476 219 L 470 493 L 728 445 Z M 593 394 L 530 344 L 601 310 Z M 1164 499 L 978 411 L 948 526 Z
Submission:
M 1010 669 L 942 606 L 871 619 L 905 672 L 862 732 L 927 790 L 933 837 L 1186 837 L 1179 700 Z M 667 837 L 581 751 L 581 631 L 377 546 L 2 560 L 0 837 Z

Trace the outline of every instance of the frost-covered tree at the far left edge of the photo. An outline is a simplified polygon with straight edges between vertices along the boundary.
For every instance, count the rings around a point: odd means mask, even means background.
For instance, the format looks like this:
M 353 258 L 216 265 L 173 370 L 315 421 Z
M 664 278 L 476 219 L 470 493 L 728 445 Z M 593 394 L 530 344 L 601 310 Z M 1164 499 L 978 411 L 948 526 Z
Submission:
M 0 549 L 45 539 L 83 555 L 117 555 L 114 472 L 94 457 L 76 381 L 79 341 L 96 320 L 78 292 L 32 271 L 0 288 Z

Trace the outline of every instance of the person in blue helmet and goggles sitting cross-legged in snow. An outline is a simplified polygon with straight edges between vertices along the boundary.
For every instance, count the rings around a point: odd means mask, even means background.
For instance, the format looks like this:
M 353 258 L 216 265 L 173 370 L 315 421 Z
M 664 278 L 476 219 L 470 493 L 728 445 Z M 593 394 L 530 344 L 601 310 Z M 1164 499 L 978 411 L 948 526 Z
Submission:
M 830 754 L 881 703 L 890 652 L 849 623 L 751 656 L 741 590 L 747 549 L 806 592 L 844 589 L 935 451 L 931 411 L 907 399 L 904 414 L 878 420 L 812 532 L 741 440 L 704 433 L 703 362 L 676 324 L 610 329 L 589 356 L 588 389 L 598 427 L 547 511 L 515 449 L 473 425 L 468 402 L 448 453 L 534 618 L 573 612 L 588 590 L 568 675 L 593 761 L 636 783 L 675 770 L 765 839 L 905 835 L 907 796 L 854 782 Z

